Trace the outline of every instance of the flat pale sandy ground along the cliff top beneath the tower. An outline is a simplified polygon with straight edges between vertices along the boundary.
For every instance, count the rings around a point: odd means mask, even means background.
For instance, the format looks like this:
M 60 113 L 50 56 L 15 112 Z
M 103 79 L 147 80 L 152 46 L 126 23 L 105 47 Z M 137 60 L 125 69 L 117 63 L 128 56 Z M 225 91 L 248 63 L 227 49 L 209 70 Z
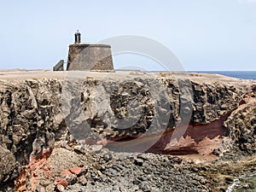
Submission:
M 116 71 L 114 73 L 102 73 L 102 72 L 79 72 L 79 71 L 63 71 L 53 72 L 51 70 L 0 70 L 0 80 L 24 80 L 24 79 L 66 79 L 66 78 L 84 78 L 84 79 L 132 79 L 134 77 L 142 78 L 156 78 L 172 75 L 175 79 L 189 78 L 195 81 L 207 81 L 212 82 L 216 80 L 237 82 L 238 79 L 230 78 L 220 74 L 209 73 L 144 73 L 140 71 Z M 252 80 L 239 80 L 244 82 L 250 82 Z

